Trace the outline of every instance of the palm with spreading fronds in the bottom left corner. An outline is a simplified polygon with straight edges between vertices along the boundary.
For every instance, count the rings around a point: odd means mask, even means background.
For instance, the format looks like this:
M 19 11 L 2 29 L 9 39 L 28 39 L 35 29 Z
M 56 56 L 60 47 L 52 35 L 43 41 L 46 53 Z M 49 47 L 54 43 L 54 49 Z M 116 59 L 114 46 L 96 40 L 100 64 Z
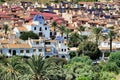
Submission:
M 20 57 L 6 58 L 5 62 L 0 63 L 0 76 L 2 80 L 18 80 L 19 76 L 26 73 L 27 68 L 22 63 Z

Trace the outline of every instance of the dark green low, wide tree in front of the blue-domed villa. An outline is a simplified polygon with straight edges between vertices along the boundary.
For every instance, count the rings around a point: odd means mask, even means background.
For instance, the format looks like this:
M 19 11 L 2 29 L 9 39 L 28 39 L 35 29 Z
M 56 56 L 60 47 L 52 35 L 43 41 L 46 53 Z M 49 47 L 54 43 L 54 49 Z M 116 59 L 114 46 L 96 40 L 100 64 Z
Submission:
M 33 33 L 32 31 L 23 32 L 23 33 L 20 35 L 20 39 L 22 39 L 22 40 L 28 40 L 28 38 L 38 39 L 39 36 L 38 36 L 37 34 Z

